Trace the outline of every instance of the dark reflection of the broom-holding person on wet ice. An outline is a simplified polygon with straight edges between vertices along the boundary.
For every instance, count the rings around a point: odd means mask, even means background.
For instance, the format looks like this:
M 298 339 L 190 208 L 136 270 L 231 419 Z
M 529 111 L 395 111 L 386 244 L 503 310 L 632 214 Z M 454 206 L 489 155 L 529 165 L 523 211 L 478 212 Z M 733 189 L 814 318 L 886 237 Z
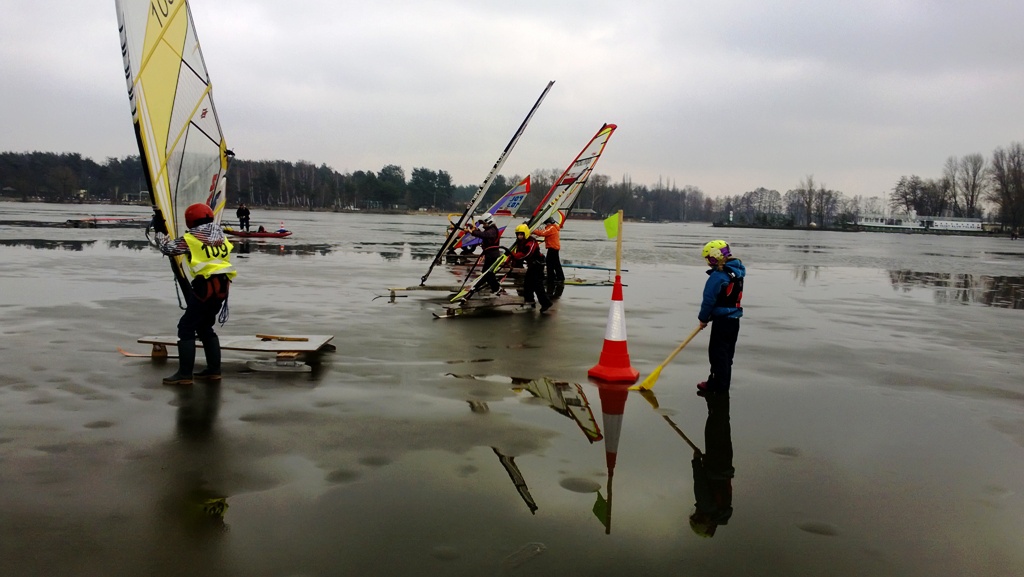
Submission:
M 693 497 L 696 509 L 690 528 L 701 537 L 714 537 L 719 525 L 732 517 L 732 429 L 729 425 L 729 393 L 705 393 L 708 421 L 705 452 L 693 451 Z

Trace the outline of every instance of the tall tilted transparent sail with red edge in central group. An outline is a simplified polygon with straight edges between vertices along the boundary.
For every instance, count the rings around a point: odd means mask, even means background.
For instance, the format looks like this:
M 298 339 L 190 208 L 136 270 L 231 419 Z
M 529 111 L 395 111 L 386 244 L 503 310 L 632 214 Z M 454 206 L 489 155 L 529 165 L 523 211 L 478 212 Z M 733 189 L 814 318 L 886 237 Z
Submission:
M 597 161 L 601 158 L 604 147 L 608 143 L 608 138 L 611 138 L 611 134 L 615 131 L 615 128 L 617 127 L 614 124 L 605 124 L 602 126 L 597 131 L 597 134 L 590 139 L 590 142 L 584 147 L 583 151 L 569 163 L 568 168 L 554 181 L 545 200 L 541 201 L 540 206 L 534 211 L 534 215 L 529 221 L 526 222 L 526 226 L 530 233 L 536 231 L 548 217 L 554 216 L 565 199 L 574 199 L 579 196 L 580 191 L 583 190 L 584 184 L 587 183 L 587 179 L 590 178 L 591 173 L 594 171 L 594 167 L 597 166 Z M 511 248 L 511 245 L 509 248 Z M 471 298 L 483 286 L 484 276 L 487 273 L 497 272 L 505 264 L 506 260 L 508 260 L 507 250 L 503 251 L 502 256 L 495 260 L 489 269 L 476 277 L 471 285 L 463 286 L 463 289 L 452 298 L 452 302 Z

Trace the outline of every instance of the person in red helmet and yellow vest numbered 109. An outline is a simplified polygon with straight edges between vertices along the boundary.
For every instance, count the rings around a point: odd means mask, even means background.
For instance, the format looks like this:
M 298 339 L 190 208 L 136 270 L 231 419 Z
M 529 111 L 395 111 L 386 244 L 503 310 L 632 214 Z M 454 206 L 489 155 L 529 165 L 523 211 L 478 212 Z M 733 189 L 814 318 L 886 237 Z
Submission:
M 196 373 L 196 378 L 220 380 L 220 339 L 213 325 L 218 313 L 221 324 L 227 320 L 227 290 L 238 274 L 230 262 L 233 246 L 213 221 L 209 206 L 194 204 L 186 208 L 185 225 L 188 232 L 176 239 L 157 231 L 160 252 L 185 255 L 193 276 L 185 312 L 178 321 L 178 371 L 165 378 L 164 384 L 191 384 L 197 338 L 206 353 L 206 369 Z

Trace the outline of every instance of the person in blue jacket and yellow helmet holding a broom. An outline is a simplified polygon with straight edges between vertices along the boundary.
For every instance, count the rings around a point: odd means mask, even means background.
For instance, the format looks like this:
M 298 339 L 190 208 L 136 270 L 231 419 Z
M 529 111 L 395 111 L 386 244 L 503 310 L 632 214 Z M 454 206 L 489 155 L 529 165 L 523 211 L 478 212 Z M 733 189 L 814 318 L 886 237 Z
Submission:
M 711 266 L 705 283 L 703 300 L 697 320 L 700 328 L 711 327 L 708 360 L 711 373 L 708 380 L 697 383 L 697 395 L 728 393 L 732 380 L 732 358 L 736 353 L 739 336 L 739 318 L 743 316 L 743 278 L 746 269 L 732 256 L 725 241 L 711 241 L 700 255 Z

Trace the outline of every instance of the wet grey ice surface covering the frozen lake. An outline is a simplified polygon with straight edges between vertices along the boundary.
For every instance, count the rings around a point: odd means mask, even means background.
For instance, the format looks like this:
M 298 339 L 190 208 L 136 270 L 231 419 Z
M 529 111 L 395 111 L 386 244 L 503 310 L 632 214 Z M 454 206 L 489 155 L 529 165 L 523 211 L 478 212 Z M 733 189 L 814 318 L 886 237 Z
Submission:
M 145 352 L 135 339 L 179 315 L 141 232 L 24 222 L 144 215 L 80 208 L 0 204 L 18 221 L 0 223 L 0 575 L 1024 567 L 1024 243 L 627 223 L 642 376 L 696 324 L 699 246 L 724 236 L 749 270 L 734 512 L 705 539 L 669 420 L 706 446 L 707 334 L 663 371 L 659 408 L 630 394 L 616 426 L 614 396 L 587 380 L 607 287 L 568 287 L 546 317 L 435 321 L 431 293 L 374 297 L 419 284 L 441 217 L 267 212 L 254 222 L 295 236 L 239 243 L 219 331 L 334 334 L 338 351 L 291 375 L 225 352 L 219 387 L 174 389 L 160 384 L 173 361 L 116 352 Z M 563 241 L 563 260 L 613 265 L 600 222 L 570 221 Z M 441 266 L 429 283 L 455 280 Z M 568 410 L 574 388 L 543 377 L 581 385 L 603 439 L 570 418 L 586 415 Z

